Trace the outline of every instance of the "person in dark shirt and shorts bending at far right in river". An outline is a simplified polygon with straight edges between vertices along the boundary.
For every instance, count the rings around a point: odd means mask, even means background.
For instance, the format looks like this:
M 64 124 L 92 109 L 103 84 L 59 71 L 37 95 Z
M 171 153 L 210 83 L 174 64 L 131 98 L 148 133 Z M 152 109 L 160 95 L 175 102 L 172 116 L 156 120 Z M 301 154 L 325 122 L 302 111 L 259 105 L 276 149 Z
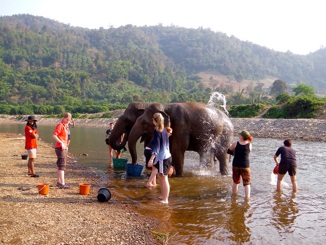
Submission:
M 284 146 L 281 146 L 274 155 L 274 161 L 276 165 L 279 166 L 279 172 L 277 176 L 277 189 L 281 189 L 281 182 L 286 172 L 289 173 L 292 182 L 292 190 L 293 192 L 297 191 L 296 185 L 296 159 L 295 159 L 295 151 L 291 148 L 292 140 L 286 139 L 283 142 Z M 281 155 L 281 161 L 277 160 L 278 156 Z

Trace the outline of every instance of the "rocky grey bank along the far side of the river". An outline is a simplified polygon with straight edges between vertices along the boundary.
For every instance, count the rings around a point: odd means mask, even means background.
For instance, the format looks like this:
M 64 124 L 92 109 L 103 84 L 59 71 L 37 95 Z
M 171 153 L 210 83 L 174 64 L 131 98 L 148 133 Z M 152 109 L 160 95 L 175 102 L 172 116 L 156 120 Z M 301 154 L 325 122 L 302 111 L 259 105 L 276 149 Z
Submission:
M 75 119 L 75 124 L 83 127 L 107 128 L 110 122 L 115 122 L 123 110 L 115 114 L 115 118 Z M 57 125 L 58 118 L 45 118 L 36 115 L 39 125 Z M 22 123 L 19 116 L 0 115 L 0 124 Z M 324 119 L 266 119 L 230 118 L 234 126 L 234 135 L 241 130 L 247 130 L 254 138 L 291 138 L 294 140 L 326 141 L 326 120 Z

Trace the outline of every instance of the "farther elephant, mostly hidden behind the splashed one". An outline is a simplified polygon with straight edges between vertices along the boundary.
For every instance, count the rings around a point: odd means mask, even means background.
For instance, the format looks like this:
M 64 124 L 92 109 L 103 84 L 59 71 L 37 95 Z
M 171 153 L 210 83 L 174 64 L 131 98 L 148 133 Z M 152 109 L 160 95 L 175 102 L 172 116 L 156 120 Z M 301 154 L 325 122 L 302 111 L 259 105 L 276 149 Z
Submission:
M 124 113 L 119 116 L 108 138 L 108 142 L 114 150 L 121 150 L 126 146 L 131 128 L 135 124 L 137 118 L 140 117 L 150 105 L 149 103 L 143 102 L 131 102 Z M 123 139 L 122 142 L 120 142 L 122 135 Z

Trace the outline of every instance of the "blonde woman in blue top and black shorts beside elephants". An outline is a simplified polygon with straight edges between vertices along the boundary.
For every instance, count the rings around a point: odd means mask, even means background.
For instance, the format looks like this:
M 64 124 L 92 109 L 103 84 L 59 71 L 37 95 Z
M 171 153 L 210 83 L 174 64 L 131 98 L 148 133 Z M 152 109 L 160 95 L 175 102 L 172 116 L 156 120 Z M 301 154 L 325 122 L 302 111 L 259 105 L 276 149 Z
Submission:
M 154 124 L 154 149 L 152 156 L 148 161 L 148 167 L 153 166 L 152 175 L 158 173 L 159 186 L 161 189 L 160 203 L 169 203 L 170 185 L 168 175 L 172 163 L 172 157 L 169 149 L 168 131 L 164 128 L 164 118 L 161 113 L 153 115 Z M 153 164 L 153 161 L 156 161 Z

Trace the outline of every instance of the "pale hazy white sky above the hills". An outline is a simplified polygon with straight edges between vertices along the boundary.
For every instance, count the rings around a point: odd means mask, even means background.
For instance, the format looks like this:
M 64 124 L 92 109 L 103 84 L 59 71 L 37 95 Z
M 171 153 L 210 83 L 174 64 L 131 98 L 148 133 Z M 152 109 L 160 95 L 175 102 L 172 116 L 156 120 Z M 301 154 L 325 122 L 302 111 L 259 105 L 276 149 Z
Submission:
M 326 47 L 323 0 L 0 0 L 0 15 L 32 14 L 90 29 L 210 28 L 275 51 L 306 55 Z

